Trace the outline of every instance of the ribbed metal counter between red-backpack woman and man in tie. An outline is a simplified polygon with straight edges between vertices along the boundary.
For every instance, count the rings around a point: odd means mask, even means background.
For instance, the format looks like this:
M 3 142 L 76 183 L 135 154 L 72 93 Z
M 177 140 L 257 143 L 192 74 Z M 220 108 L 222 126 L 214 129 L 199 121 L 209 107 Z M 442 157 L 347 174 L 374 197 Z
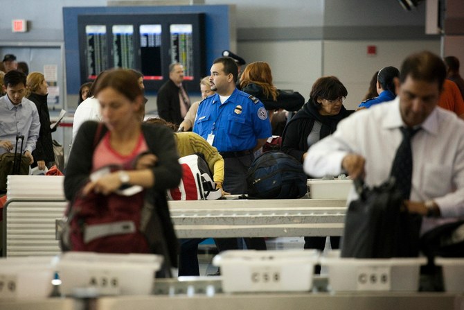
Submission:
M 339 236 L 346 200 L 170 201 L 179 238 Z

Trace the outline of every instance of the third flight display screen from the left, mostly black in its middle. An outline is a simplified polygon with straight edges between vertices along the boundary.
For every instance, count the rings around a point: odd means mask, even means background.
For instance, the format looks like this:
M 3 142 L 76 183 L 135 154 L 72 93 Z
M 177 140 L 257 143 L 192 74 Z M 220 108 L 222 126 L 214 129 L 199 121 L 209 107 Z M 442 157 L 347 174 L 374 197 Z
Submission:
M 140 25 L 140 58 L 145 80 L 162 80 L 161 25 Z

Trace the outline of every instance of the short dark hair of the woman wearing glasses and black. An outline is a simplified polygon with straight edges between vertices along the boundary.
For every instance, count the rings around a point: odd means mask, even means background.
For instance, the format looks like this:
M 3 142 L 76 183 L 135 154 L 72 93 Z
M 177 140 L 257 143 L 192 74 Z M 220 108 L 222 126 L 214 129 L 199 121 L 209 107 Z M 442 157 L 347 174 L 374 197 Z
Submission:
M 310 103 L 321 110 L 322 104 L 317 99 L 336 100 L 340 97 L 346 97 L 348 90 L 335 76 L 323 76 L 318 78 L 312 85 L 310 92 Z

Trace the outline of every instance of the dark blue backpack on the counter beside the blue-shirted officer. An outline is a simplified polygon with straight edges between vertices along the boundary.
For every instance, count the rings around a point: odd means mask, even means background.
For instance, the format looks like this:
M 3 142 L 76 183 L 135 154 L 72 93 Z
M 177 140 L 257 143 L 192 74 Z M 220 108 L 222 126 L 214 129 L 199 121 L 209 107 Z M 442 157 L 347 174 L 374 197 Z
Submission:
M 307 193 L 307 175 L 294 157 L 271 150 L 251 163 L 247 189 L 249 198 L 300 198 Z

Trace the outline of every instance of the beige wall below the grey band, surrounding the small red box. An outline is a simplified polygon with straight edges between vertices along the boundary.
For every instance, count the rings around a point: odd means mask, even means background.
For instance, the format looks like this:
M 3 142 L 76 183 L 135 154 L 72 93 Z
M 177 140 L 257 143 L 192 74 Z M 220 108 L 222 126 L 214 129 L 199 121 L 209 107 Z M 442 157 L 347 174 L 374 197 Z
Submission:
M 375 45 L 377 55 L 367 55 Z M 400 69 L 407 55 L 422 50 L 440 54 L 440 41 L 280 41 L 239 42 L 238 53 L 248 63 L 267 61 L 274 84 L 294 89 L 307 100 L 320 76 L 337 76 L 348 89 L 346 107 L 353 109 L 366 94 L 374 72 L 386 66 Z

